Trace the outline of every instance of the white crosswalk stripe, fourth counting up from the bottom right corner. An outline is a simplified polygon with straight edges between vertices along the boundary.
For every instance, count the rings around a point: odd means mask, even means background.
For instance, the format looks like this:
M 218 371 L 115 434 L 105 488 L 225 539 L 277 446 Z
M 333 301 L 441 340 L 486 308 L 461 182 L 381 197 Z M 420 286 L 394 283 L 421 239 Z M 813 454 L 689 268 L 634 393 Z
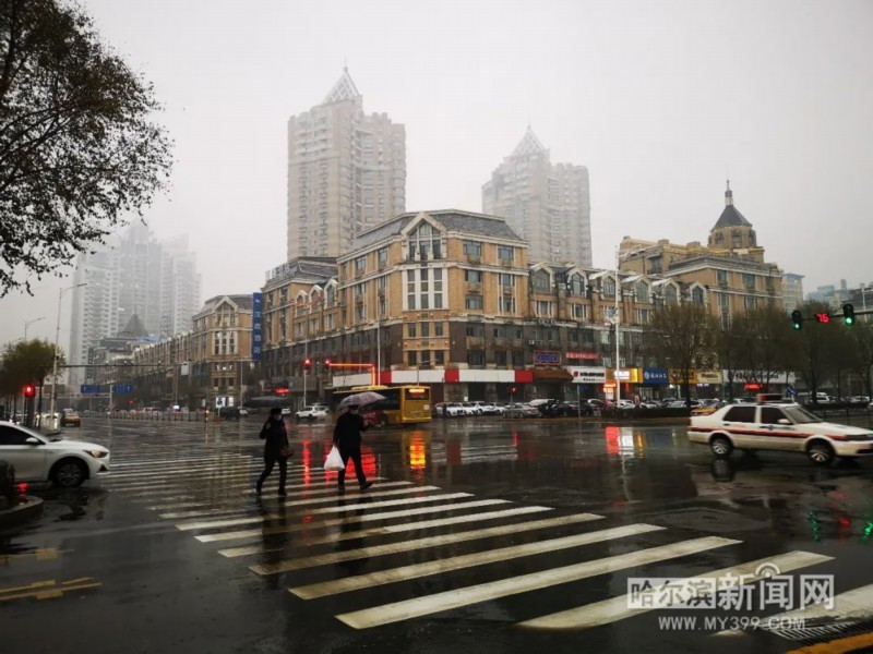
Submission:
M 371 589 L 378 585 L 397 583 L 400 581 L 408 581 L 410 579 L 419 579 L 429 574 L 463 570 L 465 568 L 497 564 L 510 559 L 557 552 L 559 549 L 567 549 L 571 547 L 578 547 L 591 543 L 601 543 L 603 541 L 635 536 L 648 532 L 661 531 L 663 529 L 665 528 L 662 526 L 657 526 L 654 524 L 630 524 L 626 526 L 605 529 L 602 531 L 576 534 L 562 538 L 539 541 L 538 543 L 525 543 L 524 545 L 513 545 L 510 547 L 501 547 L 500 549 L 477 552 L 474 554 L 436 559 L 423 564 L 412 564 L 409 566 L 393 568 L 391 570 L 380 570 L 376 572 L 370 572 L 369 574 L 347 577 L 336 581 L 313 583 L 310 585 L 298 586 L 288 590 L 292 594 L 303 600 L 313 600 L 315 597 L 324 597 L 326 595 L 336 595 L 339 593 L 347 593 L 349 591 Z

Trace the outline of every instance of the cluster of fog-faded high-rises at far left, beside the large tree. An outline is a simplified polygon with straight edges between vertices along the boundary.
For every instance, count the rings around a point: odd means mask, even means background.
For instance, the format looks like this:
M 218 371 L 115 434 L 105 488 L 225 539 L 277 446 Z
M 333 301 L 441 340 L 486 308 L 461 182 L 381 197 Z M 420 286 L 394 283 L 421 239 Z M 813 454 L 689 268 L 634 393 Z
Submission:
M 105 249 L 79 257 L 73 284 L 69 360 L 93 363 L 103 339 L 115 337 L 137 316 L 151 337 L 191 329 L 200 306 L 200 275 L 187 237 L 162 243 L 148 228 L 133 225 Z M 70 384 L 92 378 L 72 368 Z

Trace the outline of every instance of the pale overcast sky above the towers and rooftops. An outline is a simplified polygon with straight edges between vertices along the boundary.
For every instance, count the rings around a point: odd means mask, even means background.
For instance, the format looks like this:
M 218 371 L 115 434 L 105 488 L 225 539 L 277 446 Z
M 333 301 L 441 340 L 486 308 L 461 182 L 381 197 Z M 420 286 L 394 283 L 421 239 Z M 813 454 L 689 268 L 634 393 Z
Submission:
M 529 119 L 553 161 L 588 167 L 597 266 L 625 234 L 705 241 L 727 168 L 804 290 L 873 282 L 870 0 L 82 4 L 166 105 L 178 164 L 147 220 L 191 237 L 204 299 L 283 263 L 286 122 L 345 60 L 364 110 L 406 125 L 407 210 L 481 210 Z M 52 339 L 63 283 L 0 300 L 0 343 L 41 315 L 29 335 Z

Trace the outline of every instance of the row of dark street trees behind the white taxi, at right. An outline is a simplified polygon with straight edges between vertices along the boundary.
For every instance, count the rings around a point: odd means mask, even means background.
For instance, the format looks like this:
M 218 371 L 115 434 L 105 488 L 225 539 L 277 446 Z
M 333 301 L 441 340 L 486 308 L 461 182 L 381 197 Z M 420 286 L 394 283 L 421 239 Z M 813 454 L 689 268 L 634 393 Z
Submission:
M 691 371 L 714 367 L 727 372 L 727 399 L 733 399 L 734 382 L 766 388 L 788 373 L 797 375 L 813 401 L 823 388 L 837 396 L 848 392 L 850 376 L 873 397 L 873 318 L 863 316 L 849 327 L 839 318 L 815 322 L 816 313 L 828 313 L 825 304 L 810 302 L 799 308 L 806 319 L 796 330 L 788 315 L 775 307 L 750 310 L 722 327 L 702 306 L 668 305 L 655 313 L 644 348 L 661 365 L 684 375 L 682 395 L 686 400 L 691 399 Z

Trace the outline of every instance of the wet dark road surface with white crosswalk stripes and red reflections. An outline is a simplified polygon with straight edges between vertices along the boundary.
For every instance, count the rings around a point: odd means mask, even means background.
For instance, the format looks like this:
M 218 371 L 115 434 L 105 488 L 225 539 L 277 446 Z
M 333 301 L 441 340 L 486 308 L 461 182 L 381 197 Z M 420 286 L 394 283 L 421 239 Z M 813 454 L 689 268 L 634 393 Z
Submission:
M 873 631 L 873 461 L 714 461 L 680 425 L 464 419 L 371 429 L 376 484 L 338 496 L 330 427 L 304 424 L 288 497 L 275 471 L 259 501 L 259 425 L 69 431 L 110 447 L 112 474 L 35 491 L 43 518 L 0 535 L 0 650 L 788 652 Z M 715 607 L 662 585 L 711 572 Z M 799 610 L 827 576 L 835 608 Z M 632 578 L 660 581 L 629 595 Z

